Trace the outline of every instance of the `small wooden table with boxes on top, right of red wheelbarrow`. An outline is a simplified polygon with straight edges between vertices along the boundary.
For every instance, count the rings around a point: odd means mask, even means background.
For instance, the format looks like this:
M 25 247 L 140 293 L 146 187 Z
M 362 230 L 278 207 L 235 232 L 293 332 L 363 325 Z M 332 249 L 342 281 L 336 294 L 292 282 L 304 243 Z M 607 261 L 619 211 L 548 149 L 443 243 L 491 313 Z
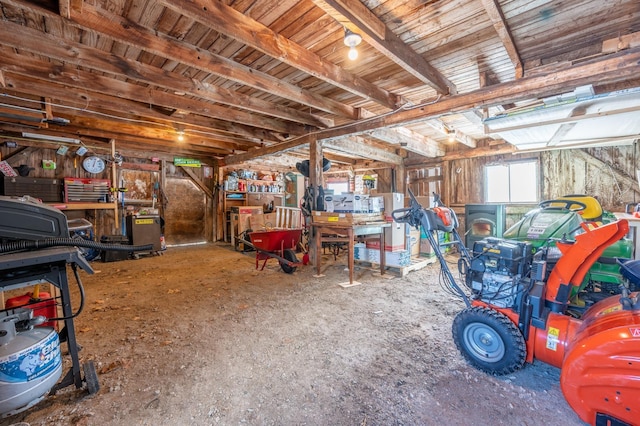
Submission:
M 331 223 L 312 223 L 316 230 L 316 270 L 320 275 L 322 263 L 322 243 L 348 243 L 349 283 L 353 284 L 353 257 L 356 238 L 360 241 L 378 240 L 380 242 L 380 274 L 384 274 L 384 229 L 391 226 L 387 222 L 373 222 L 359 225 Z M 324 236 L 323 234 L 331 234 Z

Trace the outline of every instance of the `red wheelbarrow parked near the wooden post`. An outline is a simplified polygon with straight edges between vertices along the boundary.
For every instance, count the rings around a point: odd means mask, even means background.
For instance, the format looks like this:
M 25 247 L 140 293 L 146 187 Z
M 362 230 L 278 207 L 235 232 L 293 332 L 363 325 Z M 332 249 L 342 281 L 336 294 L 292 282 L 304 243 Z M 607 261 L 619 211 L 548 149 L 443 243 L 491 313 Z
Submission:
M 302 263 L 296 257 L 296 247 L 300 242 L 302 229 L 274 229 L 271 231 L 250 232 L 250 246 L 256 250 L 256 269 L 261 260 L 262 271 L 267 264 L 267 260 L 278 259 L 280 267 L 287 274 L 295 272 Z M 247 243 L 248 241 L 244 241 Z

